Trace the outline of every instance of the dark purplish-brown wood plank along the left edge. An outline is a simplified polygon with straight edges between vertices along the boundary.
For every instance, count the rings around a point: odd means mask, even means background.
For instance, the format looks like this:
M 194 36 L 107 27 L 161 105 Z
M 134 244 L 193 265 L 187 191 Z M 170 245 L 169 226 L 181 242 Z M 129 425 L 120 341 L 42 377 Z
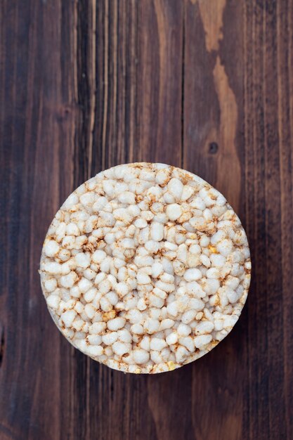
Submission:
M 75 43 L 65 28 L 74 29 L 74 4 L 1 2 L 1 439 L 70 432 L 60 418 L 70 348 L 60 346 L 37 273 L 46 228 L 72 191 Z

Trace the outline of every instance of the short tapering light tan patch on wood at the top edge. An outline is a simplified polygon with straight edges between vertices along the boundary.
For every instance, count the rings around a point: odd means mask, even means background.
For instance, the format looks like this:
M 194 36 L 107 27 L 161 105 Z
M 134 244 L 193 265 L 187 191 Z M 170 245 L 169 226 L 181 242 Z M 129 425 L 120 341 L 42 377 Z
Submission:
M 193 4 L 195 2 L 196 0 Z M 204 25 L 207 51 L 218 51 L 219 41 L 223 39 L 223 10 L 226 0 L 198 0 L 198 6 Z

